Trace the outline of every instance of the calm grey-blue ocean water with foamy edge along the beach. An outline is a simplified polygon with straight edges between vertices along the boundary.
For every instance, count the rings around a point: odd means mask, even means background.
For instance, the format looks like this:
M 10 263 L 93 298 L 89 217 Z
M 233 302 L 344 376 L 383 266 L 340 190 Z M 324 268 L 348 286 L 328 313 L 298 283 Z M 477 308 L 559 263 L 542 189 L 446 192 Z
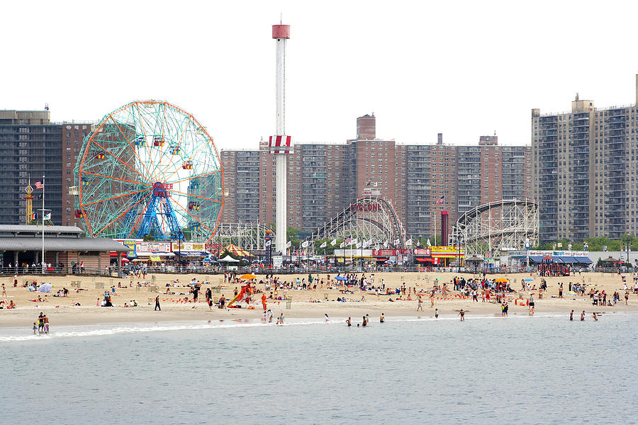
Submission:
M 12 424 L 635 424 L 637 324 L 617 313 L 0 329 L 0 406 Z

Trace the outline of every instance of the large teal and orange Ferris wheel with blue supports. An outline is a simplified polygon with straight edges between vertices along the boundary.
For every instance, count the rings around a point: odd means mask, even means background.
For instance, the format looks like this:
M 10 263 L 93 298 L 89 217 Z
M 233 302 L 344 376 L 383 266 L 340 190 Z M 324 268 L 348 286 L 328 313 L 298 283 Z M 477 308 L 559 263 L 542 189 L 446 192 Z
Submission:
M 208 242 L 224 204 L 213 138 L 165 101 L 134 101 L 84 138 L 75 215 L 94 237 Z

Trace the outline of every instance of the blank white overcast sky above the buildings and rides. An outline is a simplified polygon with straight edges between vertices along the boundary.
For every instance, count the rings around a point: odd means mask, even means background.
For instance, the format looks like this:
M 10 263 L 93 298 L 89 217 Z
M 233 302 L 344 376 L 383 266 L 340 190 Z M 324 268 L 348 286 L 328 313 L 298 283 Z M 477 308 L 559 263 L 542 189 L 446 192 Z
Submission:
M 11 1 L 0 6 L 0 109 L 99 120 L 164 99 L 218 149 L 274 133 L 272 24 L 291 25 L 286 132 L 344 142 L 374 112 L 377 137 L 530 142 L 531 108 L 635 102 L 636 1 Z

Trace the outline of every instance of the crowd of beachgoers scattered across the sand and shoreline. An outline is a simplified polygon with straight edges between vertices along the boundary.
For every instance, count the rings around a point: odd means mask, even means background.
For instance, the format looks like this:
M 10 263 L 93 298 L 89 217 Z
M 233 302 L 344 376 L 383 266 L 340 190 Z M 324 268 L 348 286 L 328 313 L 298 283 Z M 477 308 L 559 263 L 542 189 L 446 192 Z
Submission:
M 144 268 L 140 268 L 136 276 L 139 278 L 145 279 L 147 277 L 146 270 Z M 409 304 L 411 306 L 416 305 L 416 310 L 418 312 L 423 312 L 425 310 L 425 302 L 427 300 L 430 301 L 430 311 L 434 312 L 435 319 L 439 317 L 439 310 L 435 309 L 435 300 L 467 300 L 474 302 L 493 302 L 494 307 L 500 306 L 500 316 L 508 317 L 508 310 L 510 308 L 510 302 L 513 302 L 516 305 L 527 305 L 528 306 L 528 314 L 534 315 L 535 308 L 537 304 L 537 300 L 543 300 L 544 295 L 547 295 L 548 285 L 545 278 L 537 277 L 536 279 L 525 278 L 520 282 L 520 290 L 514 289 L 512 283 L 507 278 L 489 278 L 489 276 L 480 276 L 478 277 L 466 277 L 466 276 L 454 276 L 448 282 L 442 282 L 439 277 L 434 278 L 433 280 L 429 280 L 429 284 L 427 288 L 425 285 L 419 285 L 419 282 L 415 282 L 414 286 L 408 285 L 407 282 L 401 283 L 396 287 L 394 285 L 386 285 L 386 282 L 383 278 L 378 278 L 374 275 L 374 273 L 336 273 L 336 274 L 324 274 L 323 276 L 319 274 L 309 273 L 308 276 L 275 276 L 273 273 L 266 274 L 263 278 L 259 279 L 251 279 L 251 280 L 242 280 L 237 276 L 235 272 L 226 272 L 223 276 L 223 282 L 225 283 L 225 288 L 233 288 L 233 284 L 235 285 L 234 296 L 236 297 L 240 293 L 240 288 L 242 286 L 249 288 L 247 290 L 247 295 L 242 300 L 245 302 L 245 307 L 250 309 L 254 309 L 261 302 L 263 308 L 263 317 L 262 321 L 264 323 L 272 323 L 276 321 L 276 324 L 284 324 L 284 313 L 282 312 L 278 317 L 272 311 L 272 309 L 267 308 L 267 302 L 272 301 L 284 301 L 289 299 L 289 293 L 287 291 L 296 290 L 296 291 L 317 291 L 317 290 L 337 290 L 338 295 L 328 295 L 325 293 L 323 297 L 312 295 L 308 302 L 361 302 L 366 303 L 366 301 L 371 298 L 376 300 L 384 300 L 387 302 L 396 302 L 396 301 L 415 301 L 415 304 Z M 154 276 L 152 276 L 154 277 Z M 572 300 L 575 300 L 576 296 L 578 297 L 589 297 L 590 302 L 595 307 L 613 307 L 622 303 L 622 300 L 625 300 L 625 305 L 628 305 L 629 301 L 629 293 L 637 293 L 638 294 L 638 276 L 634 277 L 634 284 L 632 286 L 627 285 L 625 279 L 622 280 L 622 288 L 618 288 L 617 290 L 607 290 L 597 288 L 595 283 L 585 282 L 585 278 L 583 278 L 582 282 L 571 282 L 564 281 L 558 282 L 553 287 L 554 290 L 557 290 L 558 295 L 552 295 L 552 297 L 558 297 L 559 299 L 563 299 L 564 297 L 571 297 Z M 559 278 L 562 280 L 562 278 Z M 580 279 L 580 278 L 577 278 Z M 565 279 L 567 280 L 567 279 Z M 38 291 L 38 286 L 43 283 L 38 284 L 38 282 L 24 282 L 22 286 L 28 288 L 32 292 Z M 204 287 L 203 285 L 208 284 L 208 287 Z M 113 301 L 114 297 L 118 296 L 118 289 L 121 288 L 133 288 L 135 286 L 150 286 L 155 285 L 155 278 L 152 279 L 152 283 L 147 282 L 146 280 L 138 281 L 137 283 L 133 283 L 133 278 L 131 278 L 130 286 L 123 286 L 121 282 L 118 282 L 117 285 L 112 285 L 111 288 L 104 291 L 103 296 L 97 298 L 96 305 L 100 307 L 138 307 L 139 304 L 136 300 L 130 300 L 129 302 L 124 302 L 122 305 L 116 305 Z M 18 275 L 16 274 L 13 277 L 13 286 L 18 287 Z M 564 291 L 564 286 L 566 287 L 566 291 Z M 166 283 L 167 292 L 169 295 L 185 295 L 184 300 L 188 298 L 188 302 L 198 302 L 199 295 L 202 291 L 206 297 L 206 305 L 208 305 L 209 310 L 212 311 L 213 306 L 218 309 L 225 309 L 228 307 L 228 300 L 225 295 L 221 294 L 219 298 L 213 298 L 213 288 L 206 281 L 198 280 L 198 278 L 192 278 L 189 282 L 184 282 L 183 284 L 179 281 L 179 278 L 176 278 L 172 281 L 172 283 Z M 184 288 L 184 289 L 182 289 Z M 453 289 L 450 289 L 453 288 Z M 45 303 L 50 302 L 53 298 L 47 297 L 68 297 L 69 293 L 72 291 L 85 290 L 82 288 L 73 288 L 68 290 L 67 288 L 56 288 L 57 290 L 52 294 L 33 294 L 33 298 L 30 298 L 30 302 L 36 303 Z M 220 287 L 216 287 L 216 292 L 220 292 Z M 1 285 L 2 296 L 7 297 L 6 295 L 6 285 L 2 283 Z M 158 292 L 157 290 L 155 292 Z M 163 292 L 163 291 L 162 291 Z M 518 293 L 516 295 L 512 295 L 513 293 Z M 36 296 L 37 295 L 37 296 Z M 155 294 L 154 294 L 155 295 Z M 549 295 L 547 295 L 549 296 Z M 367 298 L 366 298 L 367 297 Z M 384 297 L 384 298 L 381 298 Z M 307 296 L 304 300 L 308 298 Z M 95 298 L 93 298 L 95 299 Z M 152 305 L 153 298 L 149 298 L 149 305 Z M 167 300 L 167 299 L 164 299 Z M 514 302 L 513 300 L 516 300 Z M 520 301 L 525 302 L 520 302 Z M 582 298 L 580 299 L 582 300 Z M 155 310 L 162 310 L 159 305 L 159 295 L 155 297 Z M 89 302 L 92 304 L 92 301 Z M 73 305 L 80 305 L 79 302 L 74 302 Z M 0 309 L 15 309 L 16 302 L 13 300 L 0 300 Z M 38 307 L 36 305 L 35 307 Z M 57 307 L 57 306 L 56 306 Z M 192 308 L 196 308 L 196 305 L 193 305 Z M 411 307 L 414 308 L 414 307 Z M 461 321 L 464 321 L 466 318 L 467 310 L 454 310 L 458 312 L 457 317 L 460 317 Z M 602 309 L 599 309 L 598 312 L 592 312 L 591 317 L 594 321 L 598 321 L 600 317 Z M 494 312 L 495 315 L 498 315 L 497 312 Z M 573 320 L 574 311 L 571 310 L 570 320 Z M 580 314 L 581 321 L 586 319 L 586 312 Z M 330 318 L 328 314 L 325 314 L 325 321 L 328 322 Z M 384 314 L 381 314 L 379 319 L 381 323 L 385 321 Z M 28 323 L 28 321 L 27 321 Z M 354 322 L 352 318 L 349 317 L 347 319 L 348 326 L 354 326 Z M 370 324 L 369 315 L 362 317 L 362 322 L 357 323 L 357 327 L 368 327 Z M 48 317 L 45 314 L 40 314 L 38 320 L 34 323 L 34 334 L 48 334 Z

